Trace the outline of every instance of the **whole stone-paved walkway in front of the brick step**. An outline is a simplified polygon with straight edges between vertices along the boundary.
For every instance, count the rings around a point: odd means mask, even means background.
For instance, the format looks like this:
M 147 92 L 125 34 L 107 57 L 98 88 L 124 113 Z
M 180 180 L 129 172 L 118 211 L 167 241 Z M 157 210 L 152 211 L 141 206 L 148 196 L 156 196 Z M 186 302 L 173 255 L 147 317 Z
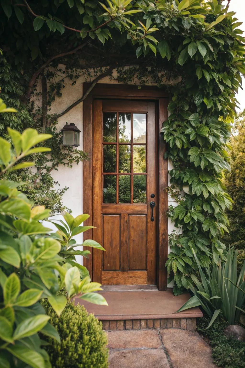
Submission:
M 107 333 L 109 368 L 217 368 L 197 332 L 168 328 Z

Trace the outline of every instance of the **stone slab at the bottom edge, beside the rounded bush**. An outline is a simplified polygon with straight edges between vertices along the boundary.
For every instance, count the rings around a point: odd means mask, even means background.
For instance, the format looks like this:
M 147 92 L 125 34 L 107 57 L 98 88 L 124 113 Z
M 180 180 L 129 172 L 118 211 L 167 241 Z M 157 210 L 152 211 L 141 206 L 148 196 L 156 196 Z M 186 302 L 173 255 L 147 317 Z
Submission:
M 169 368 L 162 349 L 111 350 L 109 368 Z

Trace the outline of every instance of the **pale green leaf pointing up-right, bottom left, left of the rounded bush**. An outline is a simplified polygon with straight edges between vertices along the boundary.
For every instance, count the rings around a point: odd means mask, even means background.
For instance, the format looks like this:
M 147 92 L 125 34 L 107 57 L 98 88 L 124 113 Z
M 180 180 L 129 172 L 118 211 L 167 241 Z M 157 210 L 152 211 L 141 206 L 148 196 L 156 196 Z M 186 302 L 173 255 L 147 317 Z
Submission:
M 26 318 L 17 325 L 14 331 L 14 340 L 23 339 L 24 337 L 34 335 L 46 325 L 50 316 L 38 314 L 34 317 Z

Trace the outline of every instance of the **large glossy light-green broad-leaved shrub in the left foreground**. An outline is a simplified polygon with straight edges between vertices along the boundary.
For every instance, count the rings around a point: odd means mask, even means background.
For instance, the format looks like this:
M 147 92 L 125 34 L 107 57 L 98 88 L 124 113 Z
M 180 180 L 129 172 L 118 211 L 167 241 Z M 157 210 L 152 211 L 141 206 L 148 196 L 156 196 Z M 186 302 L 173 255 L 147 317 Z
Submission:
M 24 362 L 33 368 L 51 368 L 38 332 L 57 341 L 60 337 L 48 322 L 50 317 L 45 314 L 40 299 L 47 298 L 58 316 L 67 303 L 64 295 L 57 296 L 64 287 L 68 300 L 82 292 L 81 297 L 85 295 L 86 300 L 95 299 L 97 304 L 106 302 L 101 295 L 96 297 L 92 293 L 101 285 L 90 283 L 89 276 L 83 277 L 88 273 L 86 269 L 82 272 L 75 262 L 73 265 L 70 259 L 59 255 L 62 250 L 59 238 L 57 240 L 55 234 L 48 236 L 51 229 L 40 223 L 50 210 L 44 206 L 33 207 L 17 189 L 19 183 L 7 180 L 10 171 L 33 164 L 15 165 L 17 161 L 33 152 L 49 151 L 46 147 L 32 147 L 50 135 L 38 134 L 32 128 L 22 134 L 9 128 L 8 134 L 13 147 L 0 137 L 0 176 L 3 177 L 0 180 L 0 367 L 24 367 Z M 76 234 L 91 228 L 79 226 L 84 215 L 75 219 L 69 216 L 76 223 Z M 71 243 L 72 236 L 69 237 Z

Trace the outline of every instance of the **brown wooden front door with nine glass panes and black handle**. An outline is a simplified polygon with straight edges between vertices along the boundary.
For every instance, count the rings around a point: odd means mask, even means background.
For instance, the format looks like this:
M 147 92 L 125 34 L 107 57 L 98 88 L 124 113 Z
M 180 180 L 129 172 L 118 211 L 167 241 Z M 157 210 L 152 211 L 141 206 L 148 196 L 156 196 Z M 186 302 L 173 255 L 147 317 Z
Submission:
M 106 250 L 93 250 L 93 281 L 104 285 L 156 283 L 155 115 L 155 102 L 93 102 L 93 239 Z

